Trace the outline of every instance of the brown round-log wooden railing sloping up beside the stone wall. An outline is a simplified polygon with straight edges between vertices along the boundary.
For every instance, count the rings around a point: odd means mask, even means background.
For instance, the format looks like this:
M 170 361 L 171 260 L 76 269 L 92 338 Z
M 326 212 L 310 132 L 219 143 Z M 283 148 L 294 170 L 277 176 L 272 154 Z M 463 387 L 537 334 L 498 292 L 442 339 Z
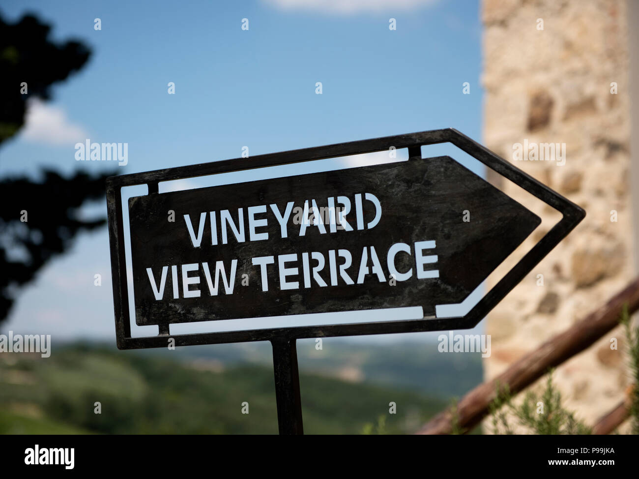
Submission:
M 592 311 L 586 318 L 557 334 L 539 348 L 515 361 L 505 372 L 492 381 L 484 382 L 467 393 L 457 404 L 458 426 L 468 431 L 488 414 L 489 406 L 497 396 L 497 385 L 508 386 L 512 395 L 525 389 L 548 372 L 575 354 L 587 349 L 601 336 L 619 326 L 624 305 L 628 313 L 639 309 L 639 278 L 617 293 L 601 308 Z M 594 434 L 608 434 L 627 418 L 627 400 L 601 418 L 593 428 Z M 625 416 L 624 416 L 625 414 Z M 442 411 L 431 419 L 417 434 L 450 434 L 452 432 L 450 410 Z

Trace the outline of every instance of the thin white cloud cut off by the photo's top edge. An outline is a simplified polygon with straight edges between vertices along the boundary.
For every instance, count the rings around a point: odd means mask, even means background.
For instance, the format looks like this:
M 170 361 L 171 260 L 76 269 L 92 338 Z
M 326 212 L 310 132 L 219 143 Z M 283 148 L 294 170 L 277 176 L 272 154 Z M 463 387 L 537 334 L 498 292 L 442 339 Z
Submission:
M 282 10 L 311 10 L 314 12 L 350 15 L 360 12 L 399 12 L 429 6 L 438 0 L 265 0 Z

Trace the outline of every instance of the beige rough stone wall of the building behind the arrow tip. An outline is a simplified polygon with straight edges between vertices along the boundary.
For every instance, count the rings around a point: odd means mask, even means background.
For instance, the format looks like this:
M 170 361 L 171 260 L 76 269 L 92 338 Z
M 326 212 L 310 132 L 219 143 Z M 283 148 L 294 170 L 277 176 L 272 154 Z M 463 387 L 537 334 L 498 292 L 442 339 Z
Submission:
M 587 212 L 489 315 L 486 379 L 635 276 L 626 8 L 625 0 L 482 2 L 484 143 Z M 617 94 L 611 93 L 613 82 Z M 565 143 L 565 164 L 516 161 L 513 145 L 525 141 Z M 520 249 L 527 251 L 560 215 L 509 182 L 500 187 L 543 219 Z M 589 424 L 617 405 L 629 383 L 623 336 L 615 329 L 555 372 L 565 404 Z M 610 349 L 612 337 L 619 350 Z

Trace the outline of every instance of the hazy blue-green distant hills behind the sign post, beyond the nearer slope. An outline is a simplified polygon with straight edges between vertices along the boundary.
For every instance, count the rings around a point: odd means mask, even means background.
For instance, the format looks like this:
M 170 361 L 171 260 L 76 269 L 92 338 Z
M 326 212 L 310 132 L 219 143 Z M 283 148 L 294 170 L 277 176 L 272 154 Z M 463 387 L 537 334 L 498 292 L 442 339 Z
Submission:
M 252 363 L 272 368 L 273 364 L 271 345 L 263 342 L 147 349 L 127 354 L 183 361 L 210 359 L 223 365 Z M 377 344 L 324 338 L 319 350 L 315 340 L 299 340 L 297 356 L 300 370 L 305 372 L 408 389 L 428 396 L 461 397 L 483 381 L 481 354 L 441 353 L 436 342 Z

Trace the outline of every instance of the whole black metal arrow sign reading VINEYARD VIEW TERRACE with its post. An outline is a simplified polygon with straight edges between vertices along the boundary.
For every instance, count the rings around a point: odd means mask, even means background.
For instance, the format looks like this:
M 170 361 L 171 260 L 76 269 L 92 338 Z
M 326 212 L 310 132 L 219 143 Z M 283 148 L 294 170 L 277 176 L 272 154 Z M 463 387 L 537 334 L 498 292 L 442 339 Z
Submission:
M 541 223 L 450 157 L 420 146 L 450 142 L 563 214 L 562 220 L 466 315 L 462 302 Z M 408 161 L 177 192 L 158 182 L 408 148 Z M 160 334 L 132 338 L 121 187 L 130 198 L 135 321 Z M 175 345 L 273 343 L 281 432 L 302 432 L 295 340 L 473 327 L 585 212 L 454 129 L 261 155 L 107 181 L 118 347 L 166 347 L 170 325 L 330 311 L 421 306 L 420 320 L 360 322 L 170 336 Z M 173 217 L 171 217 L 173 213 Z M 268 321 L 268 320 L 266 320 Z

